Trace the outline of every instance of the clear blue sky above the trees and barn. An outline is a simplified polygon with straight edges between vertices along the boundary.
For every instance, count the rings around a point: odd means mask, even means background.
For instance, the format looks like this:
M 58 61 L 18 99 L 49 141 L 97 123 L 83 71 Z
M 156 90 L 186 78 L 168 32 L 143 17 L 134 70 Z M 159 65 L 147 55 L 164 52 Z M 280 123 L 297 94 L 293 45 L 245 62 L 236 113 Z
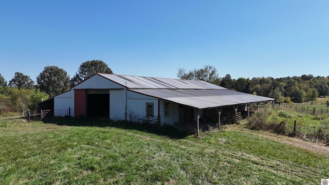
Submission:
M 0 73 L 33 81 L 45 66 L 72 78 L 102 60 L 114 73 L 177 78 L 329 76 L 327 0 L 0 0 Z

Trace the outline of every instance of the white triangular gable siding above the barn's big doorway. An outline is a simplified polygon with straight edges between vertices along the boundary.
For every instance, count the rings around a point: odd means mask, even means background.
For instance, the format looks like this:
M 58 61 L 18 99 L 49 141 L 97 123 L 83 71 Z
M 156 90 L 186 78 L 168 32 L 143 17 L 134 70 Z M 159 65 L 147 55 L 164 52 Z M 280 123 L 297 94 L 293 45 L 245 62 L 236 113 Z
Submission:
M 110 88 L 123 88 L 123 86 L 115 82 L 112 82 L 104 77 L 101 77 L 99 75 L 95 75 L 74 87 L 74 89 L 110 89 Z

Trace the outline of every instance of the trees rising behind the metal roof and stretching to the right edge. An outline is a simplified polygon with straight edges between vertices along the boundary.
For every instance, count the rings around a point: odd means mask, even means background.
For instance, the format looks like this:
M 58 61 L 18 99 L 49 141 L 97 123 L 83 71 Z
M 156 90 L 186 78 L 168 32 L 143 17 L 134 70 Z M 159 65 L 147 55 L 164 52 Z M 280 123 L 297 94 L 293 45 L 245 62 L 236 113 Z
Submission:
M 270 97 L 284 103 L 313 103 L 316 98 L 325 97 L 329 94 L 329 76 L 302 75 L 301 77 L 277 79 L 272 77 L 232 79 L 228 74 L 219 78 L 217 69 L 214 66 L 206 65 L 204 68 L 189 71 L 185 68 L 179 68 L 177 77 L 179 79 L 204 80 L 230 90 Z

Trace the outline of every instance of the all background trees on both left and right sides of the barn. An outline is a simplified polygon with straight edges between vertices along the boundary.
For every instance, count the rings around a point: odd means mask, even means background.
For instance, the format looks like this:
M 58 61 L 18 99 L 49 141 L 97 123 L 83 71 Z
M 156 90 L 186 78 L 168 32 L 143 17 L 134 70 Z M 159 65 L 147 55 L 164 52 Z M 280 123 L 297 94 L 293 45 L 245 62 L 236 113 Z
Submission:
M 28 109 L 35 111 L 38 102 L 69 90 L 97 72 L 113 73 L 103 61 L 92 60 L 83 62 L 71 79 L 64 69 L 57 66 L 46 66 L 36 77 L 36 83 L 29 76 L 15 72 L 14 77 L 7 84 L 0 74 L 0 115 Z M 317 97 L 325 97 L 329 93 L 329 76 L 302 75 L 301 77 L 277 79 L 271 77 L 232 79 L 228 74 L 220 78 L 218 70 L 214 66 L 206 65 L 203 68 L 189 71 L 179 68 L 177 77 L 204 80 L 230 90 L 270 97 L 284 103 L 313 103 Z

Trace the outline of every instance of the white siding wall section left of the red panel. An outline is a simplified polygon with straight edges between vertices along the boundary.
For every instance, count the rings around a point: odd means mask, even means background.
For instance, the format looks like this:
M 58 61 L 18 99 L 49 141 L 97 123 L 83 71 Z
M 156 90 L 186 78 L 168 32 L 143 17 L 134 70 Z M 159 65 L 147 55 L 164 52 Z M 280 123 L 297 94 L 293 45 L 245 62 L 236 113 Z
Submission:
M 74 91 L 69 90 L 66 93 L 54 97 L 54 110 L 69 109 L 70 115 L 74 117 Z

